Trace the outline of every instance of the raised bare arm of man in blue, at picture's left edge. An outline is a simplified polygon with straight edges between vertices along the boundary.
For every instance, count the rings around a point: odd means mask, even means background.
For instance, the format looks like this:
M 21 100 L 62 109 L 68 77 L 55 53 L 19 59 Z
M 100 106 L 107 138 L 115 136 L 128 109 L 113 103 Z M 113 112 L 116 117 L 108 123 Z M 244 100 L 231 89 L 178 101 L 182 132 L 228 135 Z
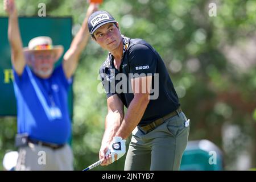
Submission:
M 9 15 L 8 39 L 11 45 L 11 63 L 18 75 L 22 75 L 26 65 L 23 55 L 22 39 L 20 38 L 18 13 L 14 0 L 4 0 L 3 7 Z

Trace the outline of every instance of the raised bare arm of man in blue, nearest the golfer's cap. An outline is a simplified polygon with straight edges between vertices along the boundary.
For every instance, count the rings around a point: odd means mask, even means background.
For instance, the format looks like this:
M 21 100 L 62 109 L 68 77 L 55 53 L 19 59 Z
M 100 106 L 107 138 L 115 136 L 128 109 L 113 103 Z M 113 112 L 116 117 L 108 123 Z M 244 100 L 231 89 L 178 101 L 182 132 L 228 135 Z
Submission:
M 97 9 L 98 4 L 90 3 L 84 22 L 82 23 L 82 27 L 73 39 L 71 47 L 64 55 L 63 68 L 67 78 L 72 77 L 72 75 L 76 71 L 76 67 L 79 62 L 79 57 L 81 55 L 82 50 L 85 48 L 90 36 L 87 24 L 88 18 Z

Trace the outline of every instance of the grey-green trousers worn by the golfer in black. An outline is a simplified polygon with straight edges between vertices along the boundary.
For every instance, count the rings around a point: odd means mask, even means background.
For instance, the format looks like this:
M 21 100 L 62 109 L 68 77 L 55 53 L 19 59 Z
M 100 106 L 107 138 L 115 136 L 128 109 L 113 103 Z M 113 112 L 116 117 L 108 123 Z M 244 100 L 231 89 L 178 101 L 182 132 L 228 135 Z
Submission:
M 136 127 L 125 160 L 125 171 L 179 170 L 188 142 L 189 126 L 183 112 L 145 134 Z

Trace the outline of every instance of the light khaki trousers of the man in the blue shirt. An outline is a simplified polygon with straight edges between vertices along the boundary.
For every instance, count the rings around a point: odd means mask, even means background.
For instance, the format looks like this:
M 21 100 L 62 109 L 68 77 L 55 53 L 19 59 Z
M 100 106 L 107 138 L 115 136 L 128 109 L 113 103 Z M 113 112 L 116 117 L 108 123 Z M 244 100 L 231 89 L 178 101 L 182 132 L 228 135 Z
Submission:
M 17 171 L 72 171 L 73 153 L 71 147 L 52 148 L 28 143 L 19 148 Z

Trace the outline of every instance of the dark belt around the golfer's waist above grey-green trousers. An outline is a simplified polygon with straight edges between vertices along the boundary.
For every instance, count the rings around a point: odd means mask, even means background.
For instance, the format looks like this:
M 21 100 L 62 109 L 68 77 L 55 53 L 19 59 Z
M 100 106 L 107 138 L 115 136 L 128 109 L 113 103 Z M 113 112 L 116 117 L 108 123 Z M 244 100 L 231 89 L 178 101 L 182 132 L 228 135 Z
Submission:
M 142 130 L 144 130 L 144 131 L 146 131 L 146 133 L 148 133 L 148 131 L 151 131 L 152 129 L 155 129 L 157 126 L 161 125 L 166 119 L 174 117 L 175 115 L 178 115 L 181 112 L 182 112 L 182 110 L 179 107 L 175 111 L 173 111 L 167 115 L 164 115 L 164 117 L 156 119 L 155 121 L 149 123 L 148 125 L 144 125 L 144 126 L 140 126 L 140 127 Z

